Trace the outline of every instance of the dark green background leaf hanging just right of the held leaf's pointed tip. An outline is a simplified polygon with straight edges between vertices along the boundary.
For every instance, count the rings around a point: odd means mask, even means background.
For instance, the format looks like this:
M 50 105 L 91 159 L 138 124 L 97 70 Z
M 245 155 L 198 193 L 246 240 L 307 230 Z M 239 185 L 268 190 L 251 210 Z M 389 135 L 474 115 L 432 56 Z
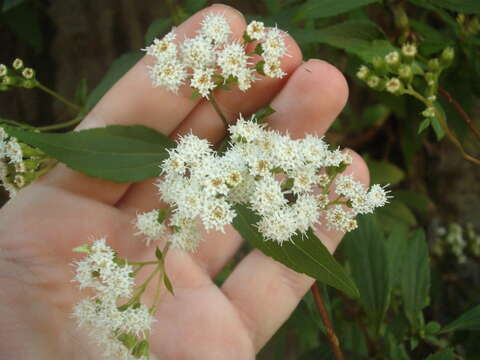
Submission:
M 359 216 L 357 221 L 358 228 L 345 235 L 342 248 L 360 291 L 360 303 L 379 329 L 392 287 L 385 238 L 374 215 Z

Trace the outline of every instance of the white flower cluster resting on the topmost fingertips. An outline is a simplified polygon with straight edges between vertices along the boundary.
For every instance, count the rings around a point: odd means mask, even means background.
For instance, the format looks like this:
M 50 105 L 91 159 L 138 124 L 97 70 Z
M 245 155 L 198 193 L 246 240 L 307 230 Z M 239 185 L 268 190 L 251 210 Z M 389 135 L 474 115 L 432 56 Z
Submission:
M 255 72 L 269 77 L 285 75 L 280 59 L 287 54 L 284 36 L 276 28 L 265 29 L 263 23 L 253 21 L 247 27 L 244 41 L 233 40 L 228 21 L 221 14 L 207 14 L 197 36 L 186 38 L 177 45 L 175 29 L 163 39 L 155 39 L 145 51 L 155 57 L 149 67 L 152 83 L 177 92 L 186 81 L 202 97 L 219 86 L 230 83 L 242 91 L 248 90 L 257 80 Z M 260 41 L 258 50 L 247 54 L 247 46 Z M 256 66 L 254 54 L 263 59 Z

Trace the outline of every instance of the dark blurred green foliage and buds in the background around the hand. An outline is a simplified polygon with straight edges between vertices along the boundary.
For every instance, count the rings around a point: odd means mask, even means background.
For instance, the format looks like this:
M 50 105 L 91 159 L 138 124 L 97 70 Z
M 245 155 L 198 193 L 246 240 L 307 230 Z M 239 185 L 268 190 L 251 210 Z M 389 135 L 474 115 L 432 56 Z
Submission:
M 138 49 L 214 2 L 4 0 L 0 122 L 71 129 Z M 343 356 L 480 359 L 480 1 L 224 3 L 346 74 L 349 102 L 328 141 L 360 152 L 372 183 L 391 184 L 391 204 L 337 252 L 360 300 L 320 286 Z M 31 156 L 26 183 L 50 166 Z M 338 359 L 327 335 L 308 294 L 258 358 Z

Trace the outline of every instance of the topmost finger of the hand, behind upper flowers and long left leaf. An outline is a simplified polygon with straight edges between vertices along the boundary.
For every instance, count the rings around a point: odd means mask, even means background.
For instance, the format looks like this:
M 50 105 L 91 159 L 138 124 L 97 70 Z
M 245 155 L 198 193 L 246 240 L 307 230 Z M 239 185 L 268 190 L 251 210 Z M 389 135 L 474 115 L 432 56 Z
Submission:
M 177 41 L 195 36 L 201 20 L 207 13 L 221 13 L 229 22 L 233 37 L 239 38 L 245 28 L 245 20 L 237 10 L 225 5 L 206 8 L 181 24 L 176 30 Z M 155 128 L 169 135 L 195 107 L 190 92 L 183 88 L 179 94 L 162 88 L 154 88 L 148 76 L 147 65 L 154 59 L 145 56 L 127 72 L 95 106 L 79 125 L 79 129 L 112 124 L 140 124 Z M 57 166 L 39 182 L 63 190 L 113 204 L 125 193 L 129 184 L 117 184 L 93 179 L 63 165 Z

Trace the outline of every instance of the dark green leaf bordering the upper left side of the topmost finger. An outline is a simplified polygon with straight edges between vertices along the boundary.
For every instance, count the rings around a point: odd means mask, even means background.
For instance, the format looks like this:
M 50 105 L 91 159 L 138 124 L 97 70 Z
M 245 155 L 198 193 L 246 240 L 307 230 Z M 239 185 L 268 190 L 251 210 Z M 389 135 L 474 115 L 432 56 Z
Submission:
M 130 68 L 142 58 L 141 51 L 124 54 L 116 59 L 100 83 L 88 96 L 85 104 L 87 109 L 92 109 L 105 93 L 119 80 Z

